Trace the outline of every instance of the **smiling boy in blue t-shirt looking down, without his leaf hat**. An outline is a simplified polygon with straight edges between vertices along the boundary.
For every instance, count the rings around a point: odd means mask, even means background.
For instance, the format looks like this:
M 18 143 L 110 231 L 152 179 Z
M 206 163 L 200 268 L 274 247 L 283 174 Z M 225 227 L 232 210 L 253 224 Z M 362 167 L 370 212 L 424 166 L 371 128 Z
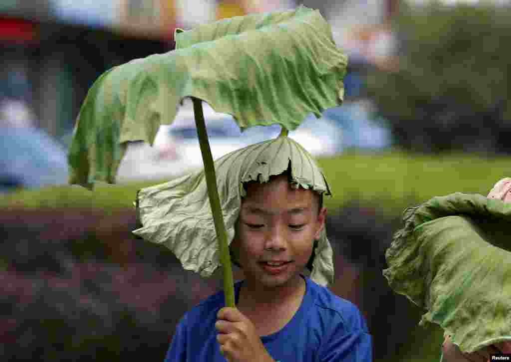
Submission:
M 320 194 L 289 181 L 284 173 L 244 184 L 231 244 L 245 277 L 235 285 L 237 307 L 223 307 L 220 292 L 187 312 L 166 361 L 371 360 L 357 307 L 301 274 L 327 210 Z

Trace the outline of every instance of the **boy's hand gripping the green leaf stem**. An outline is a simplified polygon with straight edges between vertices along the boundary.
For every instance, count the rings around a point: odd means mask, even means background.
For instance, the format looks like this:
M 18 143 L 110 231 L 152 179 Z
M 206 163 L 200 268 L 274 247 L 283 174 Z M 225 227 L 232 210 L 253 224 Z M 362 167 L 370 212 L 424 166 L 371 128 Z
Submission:
M 273 362 L 253 323 L 237 308 L 224 307 L 217 318 L 217 341 L 228 362 Z

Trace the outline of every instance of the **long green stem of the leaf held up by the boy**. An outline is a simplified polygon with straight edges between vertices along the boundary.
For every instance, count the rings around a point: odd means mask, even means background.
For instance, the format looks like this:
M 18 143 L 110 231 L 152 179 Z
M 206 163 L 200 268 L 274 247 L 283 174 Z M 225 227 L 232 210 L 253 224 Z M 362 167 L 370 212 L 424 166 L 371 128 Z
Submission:
M 193 112 L 195 115 L 195 125 L 197 126 L 197 135 L 199 136 L 200 152 L 204 163 L 204 174 L 206 176 L 207 195 L 210 199 L 211 212 L 213 213 L 213 222 L 217 232 L 218 247 L 220 250 L 220 262 L 223 269 L 223 283 L 225 306 L 234 307 L 234 281 L 233 270 L 230 263 L 229 246 L 227 244 L 227 232 L 220 207 L 220 198 L 218 197 L 217 177 L 215 174 L 215 164 L 211 155 L 210 142 L 207 140 L 206 124 L 202 112 L 202 101 L 193 97 Z

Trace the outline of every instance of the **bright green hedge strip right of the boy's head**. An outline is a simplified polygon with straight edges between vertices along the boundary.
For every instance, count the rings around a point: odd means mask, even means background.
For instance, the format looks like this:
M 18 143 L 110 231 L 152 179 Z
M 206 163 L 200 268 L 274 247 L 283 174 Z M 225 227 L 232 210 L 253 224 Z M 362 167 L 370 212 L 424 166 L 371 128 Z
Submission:
M 319 160 L 330 182 L 333 204 L 356 199 L 388 200 L 402 207 L 452 192 L 486 195 L 509 176 L 511 157 L 452 153 L 444 155 L 386 152 L 343 154 Z

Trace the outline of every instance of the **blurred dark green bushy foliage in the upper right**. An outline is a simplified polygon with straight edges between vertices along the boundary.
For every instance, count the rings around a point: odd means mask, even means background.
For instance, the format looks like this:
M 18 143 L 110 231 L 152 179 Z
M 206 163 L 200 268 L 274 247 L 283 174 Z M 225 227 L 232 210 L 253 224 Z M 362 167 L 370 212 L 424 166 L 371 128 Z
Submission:
M 368 77 L 395 143 L 418 152 L 511 153 L 511 11 L 439 3 L 403 9 L 399 70 Z

